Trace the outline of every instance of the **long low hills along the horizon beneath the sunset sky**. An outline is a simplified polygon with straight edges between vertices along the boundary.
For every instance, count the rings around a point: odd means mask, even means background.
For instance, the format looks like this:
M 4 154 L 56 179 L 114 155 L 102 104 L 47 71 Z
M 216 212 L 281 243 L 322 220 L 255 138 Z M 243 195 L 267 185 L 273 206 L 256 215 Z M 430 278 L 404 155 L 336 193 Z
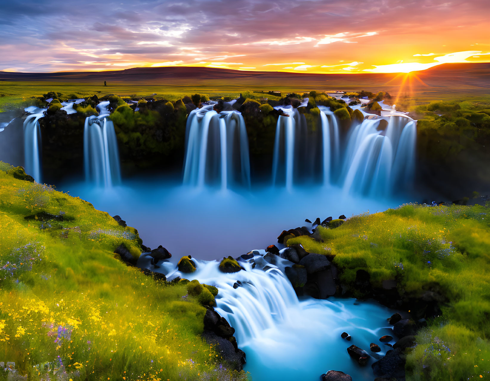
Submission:
M 432 96 L 448 93 L 488 95 L 490 63 L 442 64 L 415 72 L 407 83 L 413 95 Z M 133 68 L 119 71 L 81 71 L 20 73 L 0 71 L 0 81 L 35 81 L 99 85 L 107 81 L 118 86 L 182 86 L 191 89 L 261 90 L 386 90 L 396 93 L 404 74 L 310 74 L 279 71 L 240 71 L 203 67 Z

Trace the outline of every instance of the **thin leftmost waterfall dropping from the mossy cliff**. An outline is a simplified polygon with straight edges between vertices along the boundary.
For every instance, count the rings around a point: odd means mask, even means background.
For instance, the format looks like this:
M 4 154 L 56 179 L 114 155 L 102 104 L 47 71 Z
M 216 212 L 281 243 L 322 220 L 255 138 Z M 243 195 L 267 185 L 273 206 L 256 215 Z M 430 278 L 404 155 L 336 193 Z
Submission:
M 24 120 L 24 165 L 25 172 L 35 181 L 41 182 L 41 128 L 39 119 L 44 117 L 46 109 L 30 106 L 25 111 L 30 113 Z

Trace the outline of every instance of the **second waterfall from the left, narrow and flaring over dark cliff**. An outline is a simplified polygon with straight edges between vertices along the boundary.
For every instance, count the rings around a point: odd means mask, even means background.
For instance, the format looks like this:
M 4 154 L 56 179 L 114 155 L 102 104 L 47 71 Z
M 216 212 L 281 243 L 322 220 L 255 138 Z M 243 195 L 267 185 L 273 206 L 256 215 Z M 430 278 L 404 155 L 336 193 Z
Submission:
M 99 116 L 87 117 L 83 131 L 85 179 L 103 187 L 121 183 L 118 143 L 114 123 L 107 118 L 108 106 L 109 101 L 100 102 Z

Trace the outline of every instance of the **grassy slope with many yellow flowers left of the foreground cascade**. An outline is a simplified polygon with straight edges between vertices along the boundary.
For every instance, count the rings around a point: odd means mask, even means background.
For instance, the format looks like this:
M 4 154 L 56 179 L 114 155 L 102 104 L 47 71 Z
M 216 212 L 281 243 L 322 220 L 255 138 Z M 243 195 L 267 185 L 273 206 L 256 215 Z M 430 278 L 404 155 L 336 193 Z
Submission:
M 185 285 L 114 258 L 122 242 L 140 253 L 135 229 L 40 187 L 0 170 L 0 361 L 28 380 L 246 380 L 200 338 Z

